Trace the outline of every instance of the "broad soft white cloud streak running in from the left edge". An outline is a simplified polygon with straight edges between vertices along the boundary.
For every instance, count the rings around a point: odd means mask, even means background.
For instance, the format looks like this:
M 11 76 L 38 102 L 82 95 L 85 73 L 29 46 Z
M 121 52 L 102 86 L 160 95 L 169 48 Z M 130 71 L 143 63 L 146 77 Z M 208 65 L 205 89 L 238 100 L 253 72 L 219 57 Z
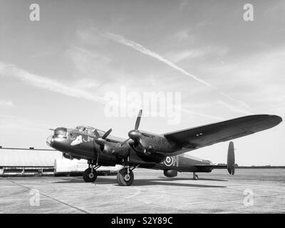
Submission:
M 74 88 L 66 84 L 60 83 L 51 78 L 46 78 L 43 76 L 38 76 L 33 73 L 29 73 L 21 68 L 16 67 L 13 64 L 4 63 L 0 61 L 0 76 L 10 76 L 17 78 L 24 83 L 42 88 L 45 90 L 50 90 L 55 93 L 61 93 L 63 95 L 68 95 L 73 98 L 84 98 L 86 100 L 91 100 L 99 103 L 104 103 L 105 100 L 99 96 L 95 96 L 92 93 L 88 93 L 86 90 L 81 90 L 79 88 Z

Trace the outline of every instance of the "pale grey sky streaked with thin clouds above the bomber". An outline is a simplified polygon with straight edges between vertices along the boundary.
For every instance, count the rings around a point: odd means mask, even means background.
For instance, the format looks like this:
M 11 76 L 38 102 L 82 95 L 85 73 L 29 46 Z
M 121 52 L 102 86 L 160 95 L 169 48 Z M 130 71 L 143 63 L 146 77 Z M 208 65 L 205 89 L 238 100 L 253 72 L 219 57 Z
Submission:
M 30 20 L 34 3 L 40 21 Z M 244 20 L 244 4 L 254 21 Z M 128 138 L 135 116 L 105 113 L 105 95 L 122 88 L 181 94 L 177 123 L 142 116 L 140 130 L 152 133 L 244 115 L 284 118 L 284 10 L 277 0 L 0 0 L 0 145 L 47 148 L 49 128 L 76 125 Z M 284 165 L 284 135 L 281 123 L 234 140 L 236 162 Z M 190 155 L 226 162 L 227 147 Z

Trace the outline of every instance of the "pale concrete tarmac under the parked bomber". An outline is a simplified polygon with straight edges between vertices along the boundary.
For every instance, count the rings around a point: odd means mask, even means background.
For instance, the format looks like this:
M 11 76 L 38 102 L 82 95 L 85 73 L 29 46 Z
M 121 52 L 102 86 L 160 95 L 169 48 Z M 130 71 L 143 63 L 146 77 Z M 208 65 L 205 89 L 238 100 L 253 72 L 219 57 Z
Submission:
M 116 176 L 0 177 L 0 213 L 285 213 L 285 169 L 238 169 L 164 177 L 134 170 L 133 185 Z

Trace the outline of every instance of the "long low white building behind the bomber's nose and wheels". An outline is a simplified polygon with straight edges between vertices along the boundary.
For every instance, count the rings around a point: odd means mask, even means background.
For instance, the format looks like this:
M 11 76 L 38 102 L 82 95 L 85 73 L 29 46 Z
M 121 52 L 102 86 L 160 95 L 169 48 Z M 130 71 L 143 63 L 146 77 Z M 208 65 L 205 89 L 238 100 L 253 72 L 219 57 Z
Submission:
M 0 176 L 76 173 L 87 168 L 87 160 L 69 160 L 56 150 L 0 149 Z M 100 167 L 98 171 L 117 172 L 120 168 L 120 165 Z

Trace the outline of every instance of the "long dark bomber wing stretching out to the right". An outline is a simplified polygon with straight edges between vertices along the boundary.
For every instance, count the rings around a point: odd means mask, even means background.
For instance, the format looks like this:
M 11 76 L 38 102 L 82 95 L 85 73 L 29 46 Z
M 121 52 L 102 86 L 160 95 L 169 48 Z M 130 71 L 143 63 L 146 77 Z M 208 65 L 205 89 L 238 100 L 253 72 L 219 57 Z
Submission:
M 278 115 L 248 115 L 242 118 L 202 125 L 197 128 L 166 133 L 164 136 L 167 140 L 196 150 L 217 142 L 233 140 L 261 130 L 273 128 L 281 121 L 282 118 Z

